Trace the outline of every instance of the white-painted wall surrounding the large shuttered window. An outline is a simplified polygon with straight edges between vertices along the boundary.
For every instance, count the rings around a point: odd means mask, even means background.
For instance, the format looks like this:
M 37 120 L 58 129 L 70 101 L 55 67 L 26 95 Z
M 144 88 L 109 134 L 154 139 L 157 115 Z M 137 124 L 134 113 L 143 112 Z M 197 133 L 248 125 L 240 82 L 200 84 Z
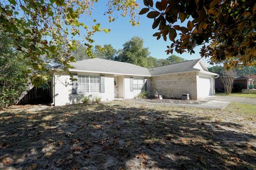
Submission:
M 78 73 L 79 74 L 79 73 Z M 83 73 L 86 74 L 86 73 Z M 100 74 L 93 74 L 100 75 Z M 105 75 L 105 93 L 88 93 L 88 94 L 72 94 L 72 82 L 69 75 L 55 75 L 55 106 L 81 103 L 84 96 L 92 95 L 93 97 L 101 97 L 101 101 L 114 99 L 114 77 L 113 75 Z

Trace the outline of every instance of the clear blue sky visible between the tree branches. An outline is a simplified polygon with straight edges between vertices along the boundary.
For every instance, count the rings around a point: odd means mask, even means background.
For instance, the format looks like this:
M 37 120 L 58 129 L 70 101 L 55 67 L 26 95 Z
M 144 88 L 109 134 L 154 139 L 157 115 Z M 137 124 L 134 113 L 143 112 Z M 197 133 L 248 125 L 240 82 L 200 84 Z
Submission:
M 143 5 L 143 1 L 139 0 L 138 3 L 139 11 L 141 8 L 145 7 Z M 97 45 L 104 45 L 104 44 L 111 44 L 115 49 L 121 49 L 123 44 L 126 41 L 129 41 L 132 37 L 138 36 L 144 40 L 144 47 L 147 47 L 150 52 L 150 56 L 156 57 L 158 59 L 167 58 L 169 55 L 166 55 L 165 50 L 167 49 L 167 45 L 171 44 L 171 41 L 167 39 L 164 41 L 163 38 L 156 40 L 156 37 L 153 37 L 155 32 L 158 32 L 157 28 L 152 29 L 151 25 L 153 24 L 153 19 L 147 18 L 146 14 L 140 15 L 140 25 L 139 26 L 132 26 L 129 22 L 129 16 L 123 17 L 121 15 L 116 14 L 118 18 L 114 21 L 109 23 L 108 16 L 103 15 L 106 11 L 106 1 L 99 1 L 98 3 L 94 4 L 94 9 L 92 12 L 92 19 L 96 19 L 97 22 L 101 24 L 101 28 L 108 28 L 111 31 L 109 33 L 105 32 L 97 32 L 93 36 L 95 40 L 95 44 Z M 83 20 L 85 24 L 92 24 L 92 19 Z M 178 25 L 181 25 L 180 21 L 177 22 Z M 183 23 L 182 23 L 183 24 Z M 81 32 L 83 34 L 83 31 Z M 180 57 L 185 58 L 186 60 L 193 60 L 196 58 L 201 58 L 200 54 L 200 47 L 195 48 L 195 54 L 190 55 L 189 53 L 173 53 Z M 207 64 L 207 60 L 205 60 Z M 209 65 L 209 64 L 207 64 Z

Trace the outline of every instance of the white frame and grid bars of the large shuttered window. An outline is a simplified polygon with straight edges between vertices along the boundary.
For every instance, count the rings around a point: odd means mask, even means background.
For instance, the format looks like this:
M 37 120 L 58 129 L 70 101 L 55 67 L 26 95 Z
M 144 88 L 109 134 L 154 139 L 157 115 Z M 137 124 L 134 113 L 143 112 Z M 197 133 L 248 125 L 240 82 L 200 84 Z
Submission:
M 79 77 L 88 77 L 88 83 L 86 83 L 86 80 L 85 80 L 85 83 L 79 83 L 78 80 L 77 80 L 77 92 L 78 92 L 78 94 L 95 94 L 95 93 L 99 93 L 100 92 L 100 76 L 99 75 L 79 74 L 79 75 L 77 75 L 77 79 L 79 79 Z M 93 82 L 94 78 L 98 78 L 99 82 Z M 79 92 L 79 84 L 88 84 L 89 85 L 89 90 L 85 91 L 85 92 Z M 93 91 L 92 92 L 91 88 L 92 88 L 93 84 L 98 84 L 98 86 L 99 86 L 98 91 Z

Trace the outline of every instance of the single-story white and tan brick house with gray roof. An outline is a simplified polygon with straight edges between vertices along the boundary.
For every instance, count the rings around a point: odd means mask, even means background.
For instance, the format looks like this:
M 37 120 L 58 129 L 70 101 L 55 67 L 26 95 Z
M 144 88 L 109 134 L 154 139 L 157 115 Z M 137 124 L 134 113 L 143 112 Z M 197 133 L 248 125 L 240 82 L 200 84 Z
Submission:
M 55 106 L 80 103 L 84 96 L 98 96 L 102 101 L 115 98 L 131 99 L 142 90 L 150 96 L 191 99 L 214 95 L 214 77 L 202 59 L 147 69 L 130 63 L 93 58 L 71 63 L 69 71 L 52 72 L 52 101 Z

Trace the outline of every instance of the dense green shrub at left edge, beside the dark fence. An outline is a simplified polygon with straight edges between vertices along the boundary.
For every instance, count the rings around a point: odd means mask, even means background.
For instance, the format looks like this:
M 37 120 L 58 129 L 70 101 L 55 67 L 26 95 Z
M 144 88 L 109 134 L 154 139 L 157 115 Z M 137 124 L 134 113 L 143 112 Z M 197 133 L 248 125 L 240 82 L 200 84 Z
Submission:
M 27 63 L 21 53 L 12 49 L 12 40 L 0 35 L 0 108 L 10 106 L 26 89 L 28 79 L 22 73 Z

